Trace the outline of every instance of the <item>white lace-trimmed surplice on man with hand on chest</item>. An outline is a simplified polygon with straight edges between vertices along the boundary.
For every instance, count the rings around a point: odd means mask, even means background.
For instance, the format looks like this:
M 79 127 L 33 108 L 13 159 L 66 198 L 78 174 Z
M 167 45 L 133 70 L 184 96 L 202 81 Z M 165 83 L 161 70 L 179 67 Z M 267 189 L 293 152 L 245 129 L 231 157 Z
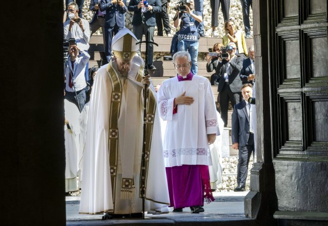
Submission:
M 177 105 L 173 114 L 174 98 L 183 92 L 193 97 L 194 103 Z M 207 134 L 220 132 L 209 80 L 195 75 L 190 81 L 168 79 L 159 88 L 157 103 L 160 117 L 167 121 L 163 141 L 165 166 L 212 165 Z

